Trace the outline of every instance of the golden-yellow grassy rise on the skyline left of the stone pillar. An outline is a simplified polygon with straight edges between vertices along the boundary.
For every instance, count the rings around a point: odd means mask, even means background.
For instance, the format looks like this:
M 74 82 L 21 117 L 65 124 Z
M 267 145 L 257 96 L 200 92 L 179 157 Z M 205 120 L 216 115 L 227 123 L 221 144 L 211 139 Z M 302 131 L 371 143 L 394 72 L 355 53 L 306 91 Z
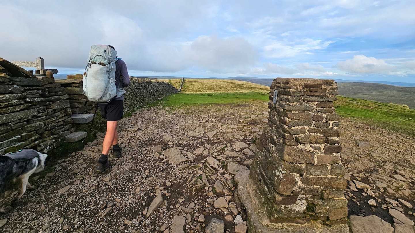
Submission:
M 181 79 L 170 79 L 168 82 L 178 88 Z M 269 92 L 269 87 L 238 80 L 186 78 L 182 92 Z

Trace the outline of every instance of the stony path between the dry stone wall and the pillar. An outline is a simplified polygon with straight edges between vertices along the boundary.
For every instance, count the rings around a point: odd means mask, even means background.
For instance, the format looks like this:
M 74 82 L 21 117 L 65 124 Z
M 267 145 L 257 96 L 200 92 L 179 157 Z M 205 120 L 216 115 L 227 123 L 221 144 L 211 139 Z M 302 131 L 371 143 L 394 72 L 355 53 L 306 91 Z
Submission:
M 212 218 L 222 219 L 225 230 L 234 232 L 240 209 L 228 164 L 249 167 L 255 149 L 251 142 L 266 124 L 266 110 L 266 103 L 142 108 L 120 121 L 122 158 L 109 159 L 106 172 L 93 171 L 103 141 L 99 133 L 82 151 L 59 160 L 54 172 L 33 177 L 36 189 L 13 208 L 8 203 L 17 191 L 7 191 L 1 203 L 8 212 L 0 216 L 0 229 L 168 232 L 180 228 L 173 224 L 174 216 L 184 216 L 186 232 L 200 232 Z M 177 149 L 173 156 L 183 157 L 182 163 L 173 165 L 165 158 L 169 148 Z M 210 163 L 205 162 L 208 157 Z M 239 166 L 232 164 L 230 172 L 234 165 Z

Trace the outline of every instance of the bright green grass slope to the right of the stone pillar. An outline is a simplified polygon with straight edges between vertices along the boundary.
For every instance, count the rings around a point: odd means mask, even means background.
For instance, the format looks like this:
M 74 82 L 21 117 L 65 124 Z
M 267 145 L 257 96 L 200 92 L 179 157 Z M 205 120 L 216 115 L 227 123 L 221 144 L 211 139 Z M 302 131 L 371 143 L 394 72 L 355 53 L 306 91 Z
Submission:
M 347 116 L 383 129 L 415 136 L 415 110 L 406 105 L 386 104 L 341 96 L 337 98 L 334 107 L 340 116 Z

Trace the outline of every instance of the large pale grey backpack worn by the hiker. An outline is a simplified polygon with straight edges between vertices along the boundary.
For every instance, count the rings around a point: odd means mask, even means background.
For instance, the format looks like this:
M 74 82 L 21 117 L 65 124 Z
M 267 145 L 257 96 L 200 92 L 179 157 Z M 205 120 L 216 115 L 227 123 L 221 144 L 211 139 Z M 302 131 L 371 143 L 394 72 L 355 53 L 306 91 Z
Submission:
M 88 100 L 105 103 L 117 95 L 115 86 L 115 62 L 117 51 L 110 46 L 91 46 L 86 75 L 83 78 L 83 94 Z

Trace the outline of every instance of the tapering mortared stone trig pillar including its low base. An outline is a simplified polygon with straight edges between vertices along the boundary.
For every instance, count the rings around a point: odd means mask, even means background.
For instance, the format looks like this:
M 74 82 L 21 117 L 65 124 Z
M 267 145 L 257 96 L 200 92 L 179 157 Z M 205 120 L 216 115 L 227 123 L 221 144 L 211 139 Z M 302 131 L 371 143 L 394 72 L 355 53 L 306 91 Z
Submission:
M 273 80 L 251 170 L 235 176 L 249 232 L 349 232 L 336 95 L 334 80 Z

